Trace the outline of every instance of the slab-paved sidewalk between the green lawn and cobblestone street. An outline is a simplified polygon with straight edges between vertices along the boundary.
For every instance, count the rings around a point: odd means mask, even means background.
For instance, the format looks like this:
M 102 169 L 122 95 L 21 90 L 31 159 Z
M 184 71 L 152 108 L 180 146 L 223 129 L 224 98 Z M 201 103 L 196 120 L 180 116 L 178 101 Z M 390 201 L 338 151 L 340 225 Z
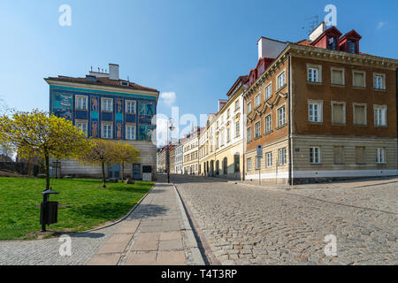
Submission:
M 174 187 L 157 184 L 88 265 L 197 264 L 184 215 Z

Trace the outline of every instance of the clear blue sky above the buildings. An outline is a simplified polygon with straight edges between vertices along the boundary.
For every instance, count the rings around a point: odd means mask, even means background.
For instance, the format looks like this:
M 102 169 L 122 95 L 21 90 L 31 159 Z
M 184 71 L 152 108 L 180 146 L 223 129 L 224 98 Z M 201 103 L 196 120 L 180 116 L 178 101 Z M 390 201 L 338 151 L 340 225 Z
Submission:
M 72 7 L 71 27 L 58 24 L 61 4 Z M 159 101 L 160 113 L 171 105 L 180 115 L 217 112 L 217 100 L 256 65 L 260 36 L 307 38 L 306 19 L 323 20 L 326 4 L 337 7 L 343 34 L 363 36 L 362 51 L 398 58 L 396 1 L 3 0 L 0 97 L 17 110 L 47 111 L 42 78 L 116 63 L 122 79 L 175 94 L 174 103 Z

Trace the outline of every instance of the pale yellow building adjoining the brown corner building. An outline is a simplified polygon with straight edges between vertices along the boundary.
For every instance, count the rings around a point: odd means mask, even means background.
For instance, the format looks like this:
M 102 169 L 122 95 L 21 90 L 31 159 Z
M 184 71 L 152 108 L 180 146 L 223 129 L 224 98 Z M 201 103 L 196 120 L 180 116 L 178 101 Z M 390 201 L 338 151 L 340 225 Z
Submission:
M 218 101 L 218 113 L 210 114 L 199 137 L 199 173 L 203 176 L 243 180 L 244 130 L 243 93 L 248 76 L 241 76 Z

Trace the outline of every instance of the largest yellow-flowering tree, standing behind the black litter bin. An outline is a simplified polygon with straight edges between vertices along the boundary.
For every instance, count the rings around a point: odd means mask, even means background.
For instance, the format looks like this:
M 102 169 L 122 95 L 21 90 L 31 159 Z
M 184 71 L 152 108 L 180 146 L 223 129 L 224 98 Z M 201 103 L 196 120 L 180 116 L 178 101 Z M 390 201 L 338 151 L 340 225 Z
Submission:
M 50 157 L 78 157 L 88 149 L 86 134 L 72 121 L 38 110 L 0 117 L 0 142 L 9 144 L 20 157 L 43 158 L 46 189 L 50 188 Z

